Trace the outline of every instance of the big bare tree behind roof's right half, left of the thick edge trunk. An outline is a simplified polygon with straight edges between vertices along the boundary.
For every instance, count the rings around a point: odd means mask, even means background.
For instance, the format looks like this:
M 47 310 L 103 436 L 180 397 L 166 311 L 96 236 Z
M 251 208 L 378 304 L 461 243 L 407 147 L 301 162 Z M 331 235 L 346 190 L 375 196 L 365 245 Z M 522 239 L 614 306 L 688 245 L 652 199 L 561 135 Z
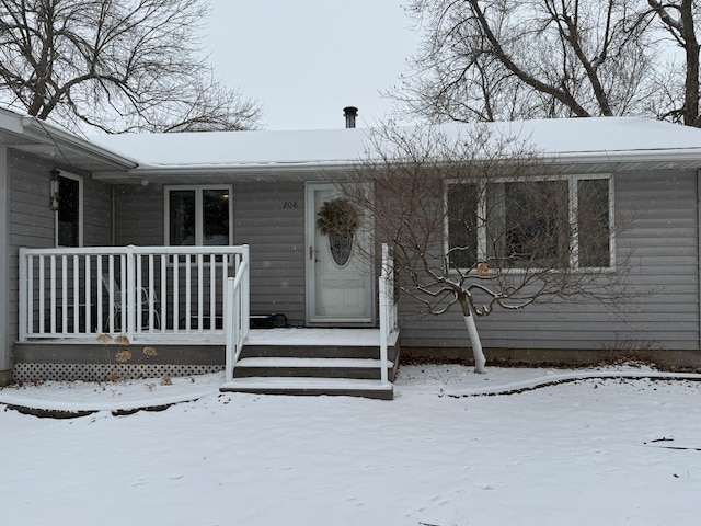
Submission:
M 642 114 L 664 90 L 668 4 L 412 0 L 425 37 L 395 96 L 433 121 Z

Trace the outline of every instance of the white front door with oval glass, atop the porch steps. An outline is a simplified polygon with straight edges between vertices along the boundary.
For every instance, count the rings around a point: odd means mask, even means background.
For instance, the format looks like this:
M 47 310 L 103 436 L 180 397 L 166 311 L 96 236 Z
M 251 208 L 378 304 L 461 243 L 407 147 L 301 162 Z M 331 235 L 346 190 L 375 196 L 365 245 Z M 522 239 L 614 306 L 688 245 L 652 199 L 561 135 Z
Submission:
M 309 184 L 307 214 L 307 321 L 323 324 L 371 324 L 375 306 L 371 236 L 363 228 L 347 235 L 324 232 L 319 218 L 333 220 L 343 203 L 333 184 Z

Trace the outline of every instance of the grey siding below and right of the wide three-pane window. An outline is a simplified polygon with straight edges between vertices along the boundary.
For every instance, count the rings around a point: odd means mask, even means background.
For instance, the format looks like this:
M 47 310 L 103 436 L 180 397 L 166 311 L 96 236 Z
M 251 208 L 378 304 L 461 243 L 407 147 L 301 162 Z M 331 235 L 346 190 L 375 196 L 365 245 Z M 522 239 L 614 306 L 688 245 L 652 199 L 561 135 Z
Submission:
M 630 281 L 647 291 L 610 312 L 595 302 L 495 310 L 476 320 L 487 348 L 699 348 L 699 231 L 693 171 L 614 175 L 614 208 L 623 230 L 617 262 L 630 258 Z M 619 268 L 619 272 L 623 268 Z M 416 313 L 402 301 L 402 345 L 469 346 L 459 309 L 443 317 Z

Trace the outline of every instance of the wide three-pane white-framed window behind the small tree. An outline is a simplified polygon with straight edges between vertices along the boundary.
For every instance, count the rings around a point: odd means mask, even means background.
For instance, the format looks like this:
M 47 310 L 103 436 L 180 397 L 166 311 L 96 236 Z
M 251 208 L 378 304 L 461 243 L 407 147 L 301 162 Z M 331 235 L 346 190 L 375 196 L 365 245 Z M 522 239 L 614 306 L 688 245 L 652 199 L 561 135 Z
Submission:
M 609 185 L 579 176 L 448 184 L 448 260 L 458 268 L 610 266 Z

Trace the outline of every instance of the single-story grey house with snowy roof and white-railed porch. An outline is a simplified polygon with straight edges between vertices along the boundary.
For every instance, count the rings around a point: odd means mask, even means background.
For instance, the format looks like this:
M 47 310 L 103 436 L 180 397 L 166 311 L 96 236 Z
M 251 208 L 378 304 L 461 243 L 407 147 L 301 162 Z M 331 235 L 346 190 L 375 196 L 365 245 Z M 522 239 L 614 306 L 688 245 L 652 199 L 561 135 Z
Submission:
M 571 186 L 608 184 L 612 220 L 634 217 L 611 239 L 611 266 L 625 254 L 631 283 L 654 294 L 616 312 L 582 301 L 495 310 L 478 320 L 487 361 L 628 354 L 701 368 L 701 130 L 630 117 L 498 126 L 529 138 Z M 387 265 L 347 264 L 353 250 L 319 232 L 334 176 L 357 165 L 367 139 L 355 127 L 87 139 L 0 110 L 0 382 L 104 377 L 128 348 L 145 375 L 233 359 L 243 390 L 296 389 L 301 377 L 300 391 L 331 392 L 346 380 L 310 377 L 355 375 L 391 396 L 400 347 L 469 357 L 458 310 L 394 305 Z

